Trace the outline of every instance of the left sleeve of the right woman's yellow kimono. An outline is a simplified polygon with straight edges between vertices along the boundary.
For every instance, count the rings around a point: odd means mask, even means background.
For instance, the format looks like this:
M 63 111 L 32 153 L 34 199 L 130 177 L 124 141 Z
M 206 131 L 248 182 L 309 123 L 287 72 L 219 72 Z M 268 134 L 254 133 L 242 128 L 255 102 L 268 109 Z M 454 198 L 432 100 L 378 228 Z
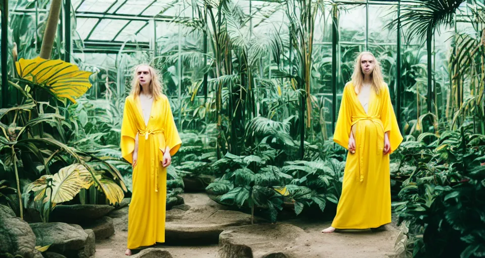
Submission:
M 333 141 L 347 150 L 349 149 L 349 136 L 352 129 L 352 103 L 349 96 L 349 86 L 351 84 L 347 84 L 344 88 L 335 124 L 335 132 L 333 133 Z

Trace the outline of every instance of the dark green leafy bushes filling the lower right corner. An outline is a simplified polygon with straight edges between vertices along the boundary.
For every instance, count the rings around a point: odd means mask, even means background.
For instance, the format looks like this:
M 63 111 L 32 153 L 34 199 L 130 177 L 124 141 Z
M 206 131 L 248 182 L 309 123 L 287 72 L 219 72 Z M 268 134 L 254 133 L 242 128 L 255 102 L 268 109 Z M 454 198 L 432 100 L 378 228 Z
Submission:
M 400 222 L 408 225 L 408 246 L 414 257 L 482 257 L 485 138 L 465 127 L 426 144 L 428 137 L 418 138 L 427 155 L 413 160 L 417 167 L 403 182 L 400 202 L 393 204 Z

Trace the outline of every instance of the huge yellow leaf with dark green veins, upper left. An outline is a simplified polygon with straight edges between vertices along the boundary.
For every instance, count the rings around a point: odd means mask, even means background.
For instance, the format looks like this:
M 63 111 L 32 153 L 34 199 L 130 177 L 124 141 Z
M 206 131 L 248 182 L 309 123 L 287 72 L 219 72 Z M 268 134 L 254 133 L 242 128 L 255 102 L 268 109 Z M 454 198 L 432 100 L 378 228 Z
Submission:
M 79 71 L 75 64 L 63 60 L 20 58 L 15 62 L 15 67 L 21 78 L 51 90 L 58 98 L 67 98 L 74 103 L 75 98 L 82 96 L 91 87 L 91 72 Z

